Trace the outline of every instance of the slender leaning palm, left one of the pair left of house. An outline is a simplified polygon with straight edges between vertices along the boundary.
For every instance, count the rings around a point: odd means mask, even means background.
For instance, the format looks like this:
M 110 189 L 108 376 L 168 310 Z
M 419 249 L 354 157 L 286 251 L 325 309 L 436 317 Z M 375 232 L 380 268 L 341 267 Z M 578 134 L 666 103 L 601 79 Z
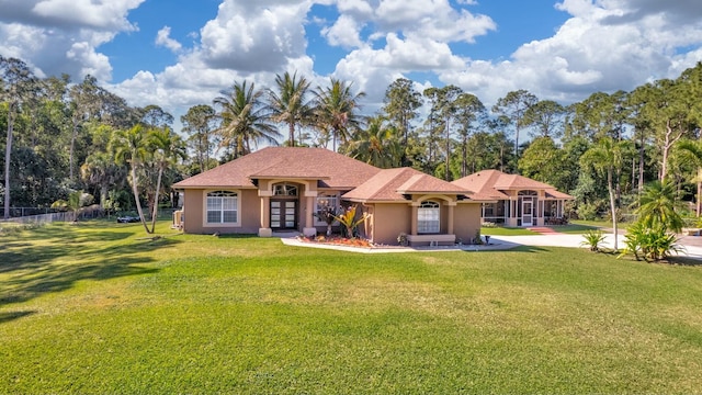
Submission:
M 134 193 L 134 201 L 136 202 L 136 211 L 139 214 L 139 221 L 144 225 L 146 233 L 150 234 L 146 219 L 144 218 L 144 211 L 141 210 L 141 201 L 139 200 L 139 179 L 137 176 L 137 169 L 144 166 L 147 159 L 148 153 L 148 138 L 144 126 L 136 125 L 128 131 L 118 132 L 116 139 L 113 142 L 115 159 L 118 162 L 126 162 L 129 165 L 129 172 L 132 176 L 132 192 Z

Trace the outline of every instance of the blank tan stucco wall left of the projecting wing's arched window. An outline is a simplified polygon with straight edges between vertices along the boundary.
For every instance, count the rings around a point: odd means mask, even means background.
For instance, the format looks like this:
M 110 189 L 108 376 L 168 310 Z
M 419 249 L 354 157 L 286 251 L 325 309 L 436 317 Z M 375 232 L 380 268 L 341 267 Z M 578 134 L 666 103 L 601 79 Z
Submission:
M 371 228 L 372 235 L 367 235 L 373 242 L 384 245 L 397 245 L 397 236 L 400 233 L 409 234 L 411 207 L 407 203 L 375 204 Z

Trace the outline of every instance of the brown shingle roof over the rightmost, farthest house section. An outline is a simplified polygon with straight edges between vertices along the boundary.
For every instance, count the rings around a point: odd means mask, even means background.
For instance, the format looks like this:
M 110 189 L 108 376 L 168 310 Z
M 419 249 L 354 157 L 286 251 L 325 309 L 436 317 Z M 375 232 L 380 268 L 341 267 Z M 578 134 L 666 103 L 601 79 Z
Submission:
M 499 170 L 482 170 L 460 180 L 454 184 L 475 192 L 471 198 L 483 200 L 482 198 L 507 199 L 501 191 L 511 190 L 544 190 L 552 199 L 573 199 L 573 196 L 556 191 L 552 185 L 539 182 L 518 174 L 507 174 Z

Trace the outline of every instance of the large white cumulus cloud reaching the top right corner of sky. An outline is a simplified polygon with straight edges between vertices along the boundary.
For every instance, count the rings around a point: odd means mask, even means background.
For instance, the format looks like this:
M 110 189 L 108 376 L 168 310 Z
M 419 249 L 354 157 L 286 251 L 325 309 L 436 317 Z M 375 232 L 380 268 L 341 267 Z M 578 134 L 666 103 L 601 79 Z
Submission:
M 702 46 L 700 4 L 564 0 L 556 8 L 571 18 L 552 37 L 523 44 L 508 61 L 468 60 L 461 71 L 440 71 L 440 78 L 488 102 L 517 89 L 573 102 L 597 91 L 631 90 L 652 79 L 675 78 L 700 59 L 700 49 L 677 53 L 680 47 Z M 690 14 L 695 23 L 669 23 Z M 624 19 L 627 22 L 620 23 Z

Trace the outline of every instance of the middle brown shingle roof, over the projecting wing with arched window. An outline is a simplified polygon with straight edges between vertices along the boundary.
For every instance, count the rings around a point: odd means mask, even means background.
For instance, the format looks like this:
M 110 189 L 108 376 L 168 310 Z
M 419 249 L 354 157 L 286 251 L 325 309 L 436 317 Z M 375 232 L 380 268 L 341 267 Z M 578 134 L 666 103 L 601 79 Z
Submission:
M 403 194 L 467 194 L 468 191 L 411 168 L 386 169 L 342 198 L 364 202 L 401 202 Z

